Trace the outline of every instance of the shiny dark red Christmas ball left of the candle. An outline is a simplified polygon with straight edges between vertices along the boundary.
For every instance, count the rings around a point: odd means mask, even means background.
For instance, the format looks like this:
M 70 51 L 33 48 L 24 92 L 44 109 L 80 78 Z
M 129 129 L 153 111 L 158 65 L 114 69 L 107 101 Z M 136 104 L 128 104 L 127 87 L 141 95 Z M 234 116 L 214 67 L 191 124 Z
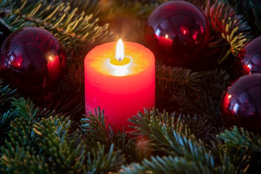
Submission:
M 27 27 L 11 33 L 0 47 L 1 77 L 20 92 L 39 92 L 58 83 L 66 54 L 49 31 Z

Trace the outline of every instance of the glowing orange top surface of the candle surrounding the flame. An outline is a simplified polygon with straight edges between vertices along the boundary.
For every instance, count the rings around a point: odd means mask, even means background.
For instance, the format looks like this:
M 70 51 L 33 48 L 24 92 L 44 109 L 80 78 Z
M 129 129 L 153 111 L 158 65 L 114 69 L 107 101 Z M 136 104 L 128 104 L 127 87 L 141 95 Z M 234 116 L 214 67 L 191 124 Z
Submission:
M 110 60 L 116 55 L 117 42 L 108 42 L 96 46 L 88 52 L 85 58 L 87 70 L 107 76 L 130 76 L 145 71 L 155 63 L 154 54 L 145 46 L 128 41 L 123 43 L 125 57 L 131 58 L 129 64 L 124 66 L 110 64 Z

